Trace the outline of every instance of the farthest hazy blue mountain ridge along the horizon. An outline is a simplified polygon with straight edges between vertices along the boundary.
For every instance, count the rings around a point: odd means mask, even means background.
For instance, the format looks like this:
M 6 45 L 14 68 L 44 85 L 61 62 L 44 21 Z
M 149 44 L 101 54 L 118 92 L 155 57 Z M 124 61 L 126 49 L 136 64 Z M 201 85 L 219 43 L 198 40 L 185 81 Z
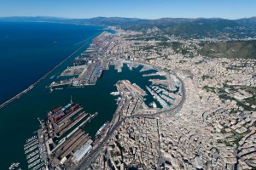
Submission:
M 57 18 L 57 17 L 45 17 L 45 16 L 36 16 L 36 17 L 0 17 L 0 21 L 20 21 L 20 22 L 67 22 L 73 24 L 91 24 L 91 25 L 101 25 L 101 26 L 160 26 L 160 27 L 169 27 L 177 26 L 180 24 L 189 24 L 192 22 L 216 22 L 219 20 L 224 20 L 220 18 L 161 18 L 157 20 L 146 20 L 146 19 L 137 19 L 137 18 L 124 18 L 124 17 L 96 17 L 90 19 L 67 19 L 67 18 Z M 256 27 L 256 17 L 244 18 L 239 20 L 230 20 L 234 21 L 241 26 L 251 26 Z

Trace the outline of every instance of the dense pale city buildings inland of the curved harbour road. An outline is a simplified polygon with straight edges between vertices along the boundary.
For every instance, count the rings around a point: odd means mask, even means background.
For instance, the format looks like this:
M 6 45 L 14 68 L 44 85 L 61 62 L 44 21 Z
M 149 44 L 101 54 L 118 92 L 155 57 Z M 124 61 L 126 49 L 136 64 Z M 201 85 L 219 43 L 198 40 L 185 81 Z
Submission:
M 160 46 L 160 41 L 140 37 L 144 37 L 141 32 L 117 30 L 108 50 L 110 59 L 175 73 L 183 81 L 185 101 L 174 115 L 125 119 L 88 167 L 253 169 L 256 60 L 207 58 L 195 50 L 196 41 L 170 38 L 169 43 L 179 42 L 189 49 L 184 55 Z

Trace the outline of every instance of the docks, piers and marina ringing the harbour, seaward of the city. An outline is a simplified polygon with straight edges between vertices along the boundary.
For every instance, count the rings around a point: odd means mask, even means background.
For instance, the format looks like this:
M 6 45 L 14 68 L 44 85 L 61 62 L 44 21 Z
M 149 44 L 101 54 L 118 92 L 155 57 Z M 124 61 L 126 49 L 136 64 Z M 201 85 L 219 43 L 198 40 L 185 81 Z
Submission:
M 125 59 L 109 59 L 109 56 L 113 56 L 109 53 L 109 48 L 115 47 L 112 46 L 113 38 L 114 36 L 106 31 L 96 37 L 90 47 L 76 57 L 60 75 L 72 78 L 52 82 L 47 87 L 49 93 L 64 88 L 95 85 L 97 79 L 102 77 L 102 71 L 108 70 L 109 65 L 114 65 L 119 72 L 122 71 L 123 65 L 127 65 L 130 70 L 142 65 L 143 77 L 154 77 L 148 81 L 151 85 L 143 89 L 129 80 L 116 82 L 117 91 L 111 94 L 119 96 L 117 109 L 111 122 L 105 122 L 95 137 L 86 133 L 84 126 L 98 113 L 87 113 L 83 105 L 73 103 L 72 96 L 65 106 L 49 111 L 47 119 L 38 119 L 41 127 L 38 129 L 38 138 L 33 136 L 27 139 L 24 145 L 29 169 L 83 169 L 90 165 L 90 161 L 94 161 L 92 157 L 97 156 L 102 146 L 112 138 L 113 132 L 125 120 L 141 117 L 154 119 L 160 114 L 168 115 L 168 111 L 175 112 L 181 108 L 184 100 L 183 82 L 175 74 L 154 65 Z M 79 76 L 73 78 L 76 75 Z M 151 96 L 154 100 L 149 104 L 145 103 L 144 96 Z

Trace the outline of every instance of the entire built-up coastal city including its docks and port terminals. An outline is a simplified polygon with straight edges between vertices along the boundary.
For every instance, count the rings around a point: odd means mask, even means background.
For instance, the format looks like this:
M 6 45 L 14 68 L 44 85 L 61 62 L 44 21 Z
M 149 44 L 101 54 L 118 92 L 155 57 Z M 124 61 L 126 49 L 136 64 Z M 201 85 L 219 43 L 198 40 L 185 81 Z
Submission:
M 25 145 L 30 169 L 256 166 L 255 59 L 209 58 L 198 53 L 198 40 L 147 41 L 141 32 L 112 29 L 114 34 L 103 31 L 69 63 L 59 77 L 71 78 L 51 82 L 49 92 L 95 85 L 109 65 L 118 72 L 123 65 L 131 70 L 142 65 L 141 72 L 154 71 L 143 73 L 154 77 L 151 85 L 116 82 L 111 94 L 119 96 L 117 109 L 96 137 L 84 125 L 97 113 L 72 99 L 49 111 L 47 120 L 40 120 L 38 139 Z M 145 96 L 154 100 L 147 104 Z M 37 144 L 40 150 L 34 150 Z

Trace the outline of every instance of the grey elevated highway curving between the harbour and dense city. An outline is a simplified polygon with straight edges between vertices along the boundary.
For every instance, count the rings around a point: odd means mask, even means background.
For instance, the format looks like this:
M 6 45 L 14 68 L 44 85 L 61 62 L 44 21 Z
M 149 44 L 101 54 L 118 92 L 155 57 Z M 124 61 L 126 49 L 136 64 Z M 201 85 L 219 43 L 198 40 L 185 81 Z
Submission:
M 159 69 L 159 68 L 158 68 Z M 175 105 L 174 107 L 168 109 L 168 110 L 164 110 L 164 111 L 158 111 L 154 114 L 140 114 L 140 115 L 132 115 L 132 116 L 126 116 L 123 117 L 119 122 L 116 122 L 113 127 L 109 130 L 107 136 L 105 137 L 105 139 L 102 139 L 102 142 L 100 144 L 98 144 L 98 146 L 96 147 L 96 149 L 93 149 L 90 151 L 90 153 L 84 157 L 84 159 L 82 161 L 80 161 L 79 166 L 76 167 L 76 170 L 84 170 L 86 167 L 90 166 L 90 163 L 92 161 L 94 161 L 96 159 L 96 156 L 98 156 L 98 154 L 100 153 L 100 151 L 102 151 L 102 147 L 108 142 L 108 139 L 110 139 L 114 133 L 114 131 L 116 129 L 119 128 L 119 126 L 121 125 L 122 122 L 125 122 L 126 119 L 130 119 L 130 118 L 152 118 L 154 119 L 157 116 L 160 116 L 160 114 L 168 114 L 168 116 L 174 116 L 178 111 L 180 111 L 183 107 L 184 101 L 186 99 L 186 94 L 185 94 L 185 88 L 184 88 L 184 83 L 183 81 L 177 77 L 177 79 L 181 82 L 181 94 L 182 94 L 182 99 L 179 102 L 178 105 Z

